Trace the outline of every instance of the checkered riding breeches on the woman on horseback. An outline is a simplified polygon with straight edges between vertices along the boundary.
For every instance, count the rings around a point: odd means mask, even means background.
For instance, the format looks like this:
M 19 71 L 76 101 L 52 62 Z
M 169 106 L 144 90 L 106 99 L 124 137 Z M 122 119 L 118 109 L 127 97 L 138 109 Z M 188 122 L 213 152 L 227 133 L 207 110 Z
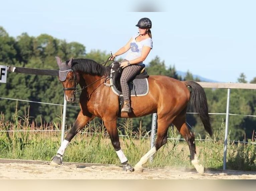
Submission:
M 130 100 L 130 90 L 128 82 L 140 71 L 140 69 L 141 66 L 139 65 L 130 65 L 123 69 L 120 83 L 124 100 Z

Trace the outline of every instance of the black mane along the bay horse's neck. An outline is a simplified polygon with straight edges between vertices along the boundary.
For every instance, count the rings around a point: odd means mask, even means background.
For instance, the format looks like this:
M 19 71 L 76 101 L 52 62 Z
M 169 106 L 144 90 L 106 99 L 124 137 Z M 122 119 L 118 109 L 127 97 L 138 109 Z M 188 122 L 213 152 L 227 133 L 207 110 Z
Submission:
M 67 61 L 66 63 L 68 63 Z M 110 74 L 110 67 L 105 67 L 100 65 L 91 59 L 73 59 L 72 61 L 72 69 L 74 71 L 81 71 L 86 74 L 104 76 Z

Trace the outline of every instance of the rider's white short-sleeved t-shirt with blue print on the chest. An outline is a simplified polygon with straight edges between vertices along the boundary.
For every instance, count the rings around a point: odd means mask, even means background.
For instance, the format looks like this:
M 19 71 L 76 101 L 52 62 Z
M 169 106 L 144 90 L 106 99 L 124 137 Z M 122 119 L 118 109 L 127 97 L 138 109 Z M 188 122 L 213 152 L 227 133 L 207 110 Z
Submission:
M 132 42 L 130 43 L 130 49 L 127 51 L 127 55 L 125 57 L 126 60 L 134 60 L 141 56 L 143 46 L 148 46 L 151 49 L 153 48 L 153 42 L 151 38 L 144 39 L 140 42 L 136 42 L 135 38 L 139 35 L 136 34 L 132 37 Z M 138 63 L 138 65 L 142 65 L 143 62 Z

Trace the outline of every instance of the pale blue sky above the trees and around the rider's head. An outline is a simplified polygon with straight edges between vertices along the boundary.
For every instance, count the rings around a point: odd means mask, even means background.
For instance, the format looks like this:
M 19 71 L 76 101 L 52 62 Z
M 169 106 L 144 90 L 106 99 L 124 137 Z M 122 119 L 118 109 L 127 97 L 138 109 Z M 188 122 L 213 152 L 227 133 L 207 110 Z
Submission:
M 138 32 L 140 18 L 148 17 L 153 49 L 146 64 L 159 56 L 177 71 L 237 82 L 241 73 L 247 81 L 256 77 L 255 10 L 253 0 L 9 0 L 1 2 L 0 26 L 12 37 L 46 33 L 79 42 L 87 52 L 110 54 Z

